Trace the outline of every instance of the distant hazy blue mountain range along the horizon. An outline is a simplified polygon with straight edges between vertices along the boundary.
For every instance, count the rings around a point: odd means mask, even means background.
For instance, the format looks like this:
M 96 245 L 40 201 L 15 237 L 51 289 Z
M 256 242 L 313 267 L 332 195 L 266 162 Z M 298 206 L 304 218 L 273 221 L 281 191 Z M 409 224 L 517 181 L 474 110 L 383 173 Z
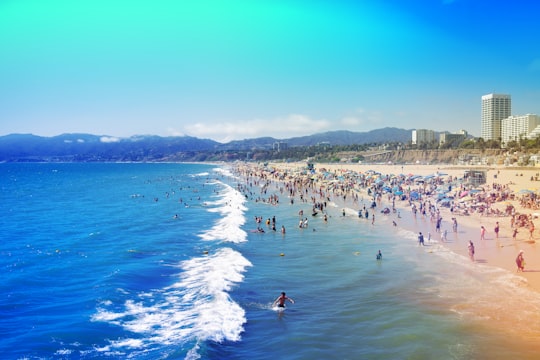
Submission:
M 91 134 L 42 137 L 31 134 L 0 136 L 0 161 L 166 161 L 200 160 L 201 153 L 270 150 L 275 143 L 288 147 L 409 142 L 411 131 L 383 128 L 368 132 L 329 131 L 310 136 L 275 139 L 262 137 L 219 143 L 191 136 L 154 135 L 117 138 Z

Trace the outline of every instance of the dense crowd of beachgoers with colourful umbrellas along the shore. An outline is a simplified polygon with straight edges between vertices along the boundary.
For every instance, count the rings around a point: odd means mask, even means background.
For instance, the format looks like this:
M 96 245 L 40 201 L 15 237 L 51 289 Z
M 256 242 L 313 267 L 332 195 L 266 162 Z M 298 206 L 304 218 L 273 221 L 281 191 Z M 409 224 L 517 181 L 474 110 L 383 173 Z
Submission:
M 375 225 L 376 209 L 381 209 L 383 215 L 394 216 L 392 224 L 398 226 L 401 218 L 399 209 L 410 208 L 413 216 L 429 219 L 432 227 L 441 241 L 447 240 L 448 231 L 442 229 L 443 216 L 441 210 L 446 208 L 450 213 L 450 224 L 454 233 L 458 232 L 458 216 L 496 216 L 508 217 L 512 239 L 515 241 L 520 228 L 526 228 L 529 239 L 534 237 L 534 217 L 517 212 L 510 202 L 519 200 L 523 207 L 535 208 L 540 206 L 540 199 L 530 192 L 516 194 L 508 184 L 483 184 L 473 186 L 464 179 L 456 176 L 435 173 L 428 176 L 414 174 L 382 174 L 374 170 L 356 172 L 351 170 L 328 171 L 324 168 L 315 169 L 287 169 L 279 167 L 266 167 L 254 164 L 243 164 L 235 171 L 244 179 L 241 190 L 246 197 L 257 202 L 271 205 L 279 204 L 280 196 L 288 196 L 291 203 L 299 201 L 309 204 L 312 216 L 322 214 L 327 221 L 326 208 L 329 203 L 337 203 L 343 207 L 342 215 L 346 215 L 345 208 L 357 208 L 358 217 L 371 219 Z M 272 187 L 273 185 L 273 187 Z M 276 189 L 272 192 L 270 189 Z M 521 197 L 520 197 L 521 195 Z M 383 207 L 382 204 L 388 204 Z M 500 204 L 505 209 L 501 210 Z M 298 227 L 308 227 L 308 218 L 299 214 Z M 397 217 L 396 217 L 397 215 Z M 270 222 L 269 222 L 270 221 Z M 276 231 L 275 219 L 268 219 L 267 225 Z M 264 230 L 263 230 L 264 231 Z M 281 232 L 285 234 L 282 226 Z M 496 222 L 493 234 L 499 239 L 500 224 Z M 480 240 L 486 239 L 488 231 L 484 225 L 480 227 Z M 431 241 L 431 231 L 427 233 Z M 419 245 L 425 245 L 424 235 L 418 235 Z M 467 244 L 469 257 L 475 261 L 475 247 L 470 240 Z M 522 258 L 521 252 L 518 257 Z M 382 255 L 381 255 L 382 257 Z M 516 263 L 517 263 L 516 259 Z M 524 261 L 520 262 L 524 264 Z M 523 271 L 518 265 L 518 270 Z

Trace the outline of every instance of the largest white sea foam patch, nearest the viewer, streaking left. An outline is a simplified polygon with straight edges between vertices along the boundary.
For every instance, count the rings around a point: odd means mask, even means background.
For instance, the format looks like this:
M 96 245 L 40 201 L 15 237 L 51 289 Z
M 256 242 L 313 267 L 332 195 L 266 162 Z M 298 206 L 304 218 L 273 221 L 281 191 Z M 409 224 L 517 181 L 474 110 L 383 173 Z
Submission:
M 127 300 L 120 311 L 103 303 L 92 320 L 121 326 L 136 336 L 112 340 L 101 351 L 240 340 L 245 312 L 228 292 L 243 281 L 249 266 L 240 253 L 223 248 L 182 262 L 177 283 Z

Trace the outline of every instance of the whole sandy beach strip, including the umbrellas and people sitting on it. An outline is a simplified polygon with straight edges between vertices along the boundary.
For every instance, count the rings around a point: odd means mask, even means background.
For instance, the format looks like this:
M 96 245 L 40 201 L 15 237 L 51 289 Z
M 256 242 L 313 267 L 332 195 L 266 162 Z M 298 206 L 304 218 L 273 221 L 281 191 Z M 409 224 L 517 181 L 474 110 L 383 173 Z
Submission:
M 329 193 L 333 189 L 335 201 L 339 206 L 347 208 L 358 208 L 358 203 L 353 202 L 352 197 L 343 198 L 341 194 L 351 194 L 347 190 L 336 193 L 340 185 L 345 183 L 350 189 L 356 191 L 357 196 L 361 196 L 364 201 L 370 199 L 373 193 L 368 193 L 368 188 L 358 187 L 358 184 L 351 183 L 351 174 L 369 174 L 370 178 L 377 177 L 379 182 L 389 181 L 392 178 L 398 178 L 402 181 L 399 185 L 400 192 L 407 199 L 402 200 L 403 196 L 392 194 L 381 195 L 381 204 L 377 207 L 377 216 L 384 207 L 391 208 L 392 198 L 396 212 L 388 214 L 394 217 L 397 226 L 409 227 L 409 230 L 423 232 L 428 242 L 428 234 L 431 234 L 431 241 L 437 241 L 449 250 L 469 256 L 468 244 L 472 241 L 475 246 L 474 262 L 477 264 L 495 266 L 507 269 L 512 272 L 517 271 L 515 259 L 519 252 L 523 250 L 526 261 L 525 270 L 518 272 L 524 281 L 524 285 L 540 292 L 540 251 L 536 246 L 536 240 L 539 233 L 538 229 L 532 232 L 530 237 L 530 223 L 538 223 L 540 210 L 534 206 L 522 204 L 524 197 L 530 198 L 540 189 L 538 173 L 540 169 L 536 168 L 512 168 L 512 167 L 489 167 L 475 168 L 486 172 L 486 183 L 472 187 L 466 185 L 463 176 L 467 168 L 448 165 L 375 165 L 375 164 L 314 164 L 314 172 L 306 173 L 305 163 L 271 163 L 266 169 L 275 170 L 274 176 L 287 176 L 287 179 L 298 179 L 302 177 L 305 181 L 313 183 L 314 189 L 324 189 Z M 281 175 L 276 175 L 281 174 Z M 452 200 L 454 205 L 451 207 L 440 206 L 437 202 L 437 196 L 431 193 L 422 195 L 421 199 L 409 202 L 408 197 L 411 192 L 426 189 L 431 179 L 438 179 L 438 188 L 446 189 L 449 181 L 452 180 L 454 188 L 446 191 L 445 196 L 455 195 Z M 403 180 L 406 179 L 406 182 Z M 418 181 L 411 181 L 416 179 Z M 425 181 L 423 181 L 425 179 Z M 369 184 L 373 185 L 374 182 Z M 396 182 L 393 182 L 394 190 Z M 463 185 L 461 185 L 463 184 Z M 380 186 L 380 185 L 379 185 Z M 435 185 L 433 186 L 435 187 Z M 459 187 L 459 188 L 458 188 Z M 339 195 L 338 195 L 339 194 Z M 488 200 L 486 200 L 488 198 Z M 487 204 L 486 204 L 487 201 Z M 441 217 L 440 232 L 437 232 L 435 221 L 430 219 L 429 214 L 422 217 L 418 212 L 416 217 L 418 221 L 405 221 L 407 216 L 412 215 L 412 206 L 417 209 L 419 205 L 436 205 Z M 513 207 L 509 210 L 508 207 Z M 510 207 L 510 209 L 512 209 Z M 506 210 L 509 210 L 506 213 Z M 400 217 L 397 216 L 399 213 Z M 515 216 L 512 216 L 514 214 Z M 452 228 L 452 218 L 455 218 L 458 224 L 458 231 L 454 232 Z M 524 220 L 522 224 L 517 223 L 512 227 L 512 218 Z M 403 220 L 403 221 L 401 221 Z M 499 234 L 496 236 L 495 227 L 499 224 Z M 484 226 L 485 236 L 481 239 L 481 227 Z M 517 229 L 515 239 L 513 238 L 514 229 Z M 447 232 L 446 240 L 441 239 L 442 234 Z

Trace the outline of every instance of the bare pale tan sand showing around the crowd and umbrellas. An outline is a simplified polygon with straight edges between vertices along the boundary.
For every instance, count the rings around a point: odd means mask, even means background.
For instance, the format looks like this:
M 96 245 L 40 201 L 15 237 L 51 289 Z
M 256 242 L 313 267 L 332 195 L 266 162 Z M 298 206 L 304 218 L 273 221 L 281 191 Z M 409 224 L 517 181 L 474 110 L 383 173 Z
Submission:
M 294 173 L 306 168 L 305 163 L 272 163 L 268 167 L 273 167 L 279 171 L 287 171 Z M 445 174 L 444 177 L 453 176 L 456 178 L 462 178 L 465 170 L 464 167 L 448 166 L 448 165 L 378 165 L 378 164 L 314 164 L 316 174 L 324 169 L 327 173 L 346 173 L 348 171 L 366 173 L 368 171 L 377 171 L 383 175 L 385 174 L 414 174 L 420 176 L 428 176 L 433 174 Z M 536 192 L 540 190 L 540 181 L 538 179 L 538 173 L 540 169 L 537 168 L 512 168 L 512 167 L 490 167 L 490 168 L 475 168 L 486 171 L 486 183 L 480 187 L 487 189 L 491 187 L 493 183 L 498 185 L 507 185 L 509 190 L 515 195 L 515 199 L 506 200 L 501 202 L 495 202 L 491 205 L 492 209 L 499 209 L 504 211 L 508 205 L 515 207 L 515 212 L 518 214 L 526 214 L 531 216 L 533 223 L 540 221 L 537 219 L 537 215 L 540 214 L 540 210 L 526 208 L 520 205 L 519 198 L 527 192 Z M 442 177 L 443 175 L 441 175 Z M 317 178 L 317 186 L 328 186 L 328 183 L 324 180 Z M 526 190 L 526 191 L 525 191 Z M 362 194 L 364 200 L 369 196 L 366 193 Z M 352 207 L 352 201 L 343 203 L 337 197 L 336 203 L 343 207 Z M 425 199 L 425 198 L 424 198 Z M 432 200 L 433 202 L 433 200 Z M 458 202 L 456 200 L 456 202 Z M 465 204 L 472 204 L 474 200 L 465 202 Z M 386 205 L 384 205 L 386 204 Z M 389 202 L 384 197 L 382 206 L 388 206 Z M 419 202 L 416 202 L 418 205 Z M 396 208 L 404 218 L 408 213 L 412 213 L 411 207 L 408 201 L 396 201 Z M 356 208 L 358 205 L 356 205 Z M 380 208 L 377 209 L 377 213 Z M 539 240 L 540 233 L 536 229 L 533 233 L 533 239 L 529 238 L 528 227 L 520 227 L 516 239 L 512 238 L 513 230 L 511 228 L 511 216 L 497 216 L 489 215 L 484 216 L 479 213 L 471 213 L 470 215 L 462 215 L 452 213 L 449 208 L 441 207 L 440 214 L 442 216 L 441 231 L 445 229 L 447 233 L 447 241 L 443 243 L 449 250 L 461 254 L 463 256 L 468 255 L 468 243 L 469 240 L 473 241 L 475 245 L 475 263 L 484 264 L 488 266 L 495 266 L 507 269 L 512 272 L 516 272 L 517 267 L 515 258 L 520 250 L 524 252 L 524 258 L 526 261 L 525 271 L 517 273 L 522 276 L 524 282 L 531 289 L 540 292 L 540 251 L 537 249 L 537 241 Z M 377 214 L 379 216 L 379 214 Z M 389 216 L 395 216 L 390 214 Z M 410 215 L 412 216 L 412 215 Z M 420 216 L 419 214 L 417 215 Z M 458 232 L 453 233 L 451 218 L 455 217 L 458 222 Z M 435 232 L 435 224 L 429 221 L 429 217 L 426 221 L 399 221 L 397 216 L 395 220 L 398 226 L 411 227 L 409 230 L 415 232 L 423 232 L 426 235 L 431 233 L 433 241 L 441 241 L 441 235 Z M 500 232 L 498 239 L 495 236 L 494 228 L 496 222 L 499 222 Z M 480 227 L 486 228 L 485 239 L 480 239 Z

